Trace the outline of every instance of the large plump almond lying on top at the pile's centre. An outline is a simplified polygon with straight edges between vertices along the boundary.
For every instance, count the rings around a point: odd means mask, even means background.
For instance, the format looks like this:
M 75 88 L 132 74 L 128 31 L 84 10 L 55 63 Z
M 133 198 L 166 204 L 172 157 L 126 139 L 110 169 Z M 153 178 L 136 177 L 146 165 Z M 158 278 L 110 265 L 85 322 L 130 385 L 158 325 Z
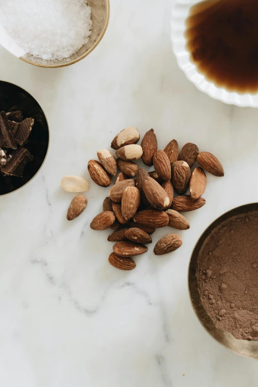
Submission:
M 162 186 L 152 177 L 145 177 L 143 180 L 143 191 L 149 204 L 158 209 L 163 210 L 170 204 L 169 196 Z

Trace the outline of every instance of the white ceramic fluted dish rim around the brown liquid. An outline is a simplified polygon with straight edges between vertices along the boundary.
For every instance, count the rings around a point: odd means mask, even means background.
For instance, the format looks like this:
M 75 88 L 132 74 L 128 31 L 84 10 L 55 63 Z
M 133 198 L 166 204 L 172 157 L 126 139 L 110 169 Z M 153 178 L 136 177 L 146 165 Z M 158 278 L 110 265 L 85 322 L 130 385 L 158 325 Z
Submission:
M 185 19 L 189 14 L 191 6 L 197 2 L 200 2 L 200 0 L 175 0 L 172 8 L 170 21 L 172 50 L 176 56 L 179 68 L 184 72 L 189 81 L 212 98 L 241 107 L 258 107 L 258 93 L 238 94 L 237 92 L 228 92 L 226 89 L 218 88 L 212 82 L 208 82 L 190 61 L 190 55 L 185 48 Z

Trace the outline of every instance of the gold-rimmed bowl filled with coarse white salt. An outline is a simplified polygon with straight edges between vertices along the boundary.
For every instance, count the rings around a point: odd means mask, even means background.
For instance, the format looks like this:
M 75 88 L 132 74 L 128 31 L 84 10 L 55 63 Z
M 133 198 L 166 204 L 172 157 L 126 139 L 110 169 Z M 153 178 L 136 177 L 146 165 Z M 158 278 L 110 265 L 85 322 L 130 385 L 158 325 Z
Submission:
M 69 66 L 98 45 L 109 14 L 109 0 L 0 0 L 0 44 L 36 66 Z

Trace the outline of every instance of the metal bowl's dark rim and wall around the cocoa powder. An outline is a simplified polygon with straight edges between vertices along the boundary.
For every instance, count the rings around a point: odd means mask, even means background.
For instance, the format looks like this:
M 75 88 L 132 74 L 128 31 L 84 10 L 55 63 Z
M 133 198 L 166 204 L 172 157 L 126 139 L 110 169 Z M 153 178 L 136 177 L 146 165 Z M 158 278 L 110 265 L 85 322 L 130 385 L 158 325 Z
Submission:
M 223 329 L 215 326 L 215 323 L 212 321 L 208 315 L 206 309 L 204 308 L 201 302 L 201 296 L 198 291 L 197 284 L 197 263 L 198 256 L 201 250 L 202 245 L 204 244 L 206 238 L 212 233 L 212 231 L 217 227 L 221 222 L 226 219 L 240 214 L 246 214 L 250 211 L 258 211 L 258 203 L 246 204 L 241 207 L 234 208 L 233 210 L 219 216 L 202 234 L 198 240 L 190 260 L 189 270 L 188 270 L 188 287 L 190 298 L 192 301 L 193 308 L 195 313 L 200 320 L 203 327 L 206 331 L 220 344 L 224 345 L 226 348 L 237 353 L 238 355 L 258 359 L 258 342 L 257 341 L 247 341 L 247 340 L 238 340 L 235 339 L 230 333 L 224 331 Z

